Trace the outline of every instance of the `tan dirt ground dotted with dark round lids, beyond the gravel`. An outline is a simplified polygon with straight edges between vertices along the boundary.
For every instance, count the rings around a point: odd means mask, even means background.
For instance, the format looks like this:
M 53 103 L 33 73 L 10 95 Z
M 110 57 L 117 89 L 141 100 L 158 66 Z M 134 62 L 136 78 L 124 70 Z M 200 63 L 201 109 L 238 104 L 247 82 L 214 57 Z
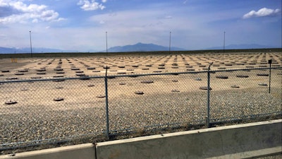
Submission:
M 282 66 L 281 52 L 229 53 L 229 54 L 177 54 L 158 56 L 132 57 L 78 57 L 47 59 L 0 59 L 0 81 L 44 80 L 54 78 L 73 78 L 91 76 L 91 80 L 73 81 L 40 81 L 24 83 L 5 83 L 1 88 L 1 105 L 7 101 L 16 101 L 17 105 L 29 101 L 35 105 L 56 105 L 54 98 L 66 98 L 69 102 L 90 101 L 102 102 L 104 99 L 104 78 L 106 66 L 109 78 L 109 98 L 135 97 L 135 92 L 161 94 L 189 92 L 207 86 L 207 73 L 189 73 L 207 71 L 212 64 L 211 87 L 213 90 L 231 90 L 231 86 L 240 89 L 257 88 L 259 84 L 269 83 L 268 60 L 271 67 Z M 15 62 L 16 61 L 16 62 Z M 225 71 L 228 69 L 252 69 L 252 71 Z M 166 76 L 135 76 L 146 73 L 172 73 Z M 175 74 L 173 74 L 175 73 Z M 182 74 L 183 73 L 183 74 Z M 262 76 L 258 76 L 258 74 Z M 177 76 L 176 76 L 177 75 Z M 222 78 L 219 78 L 221 76 Z M 224 78 L 227 77 L 227 79 Z M 238 76 L 248 76 L 238 78 Z M 151 83 L 150 83 L 151 82 Z M 281 69 L 272 71 L 271 87 L 281 87 Z M 96 98 L 93 98 L 96 97 Z M 99 98 L 100 97 L 100 98 Z M 66 109 L 66 108 L 64 108 Z M 68 107 L 71 109 L 71 107 Z M 10 110 L 10 111 L 9 111 Z M 1 113 L 11 113 L 11 109 L 1 108 Z M 13 112 L 16 113 L 16 112 Z

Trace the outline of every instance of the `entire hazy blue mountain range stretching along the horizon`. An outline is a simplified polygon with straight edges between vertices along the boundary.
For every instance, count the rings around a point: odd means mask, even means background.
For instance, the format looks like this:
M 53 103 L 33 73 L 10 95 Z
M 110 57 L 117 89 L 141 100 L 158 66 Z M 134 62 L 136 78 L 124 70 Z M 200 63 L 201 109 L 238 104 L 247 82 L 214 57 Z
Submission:
M 265 49 L 265 48 L 281 48 L 274 46 L 266 46 L 266 45 L 227 45 L 225 49 Z M 206 49 L 223 49 L 223 47 L 209 47 Z M 108 52 L 154 52 L 154 51 L 168 51 L 169 47 L 164 47 L 161 45 L 154 44 L 144 44 L 138 42 L 135 45 L 125 45 L 125 46 L 117 46 L 110 47 Z M 185 51 L 189 49 L 183 49 L 179 47 L 171 47 L 171 51 Z M 77 52 L 72 50 L 63 50 L 63 49 L 52 49 L 52 48 L 41 48 L 35 47 L 32 48 L 32 53 L 45 53 L 45 52 Z M 106 50 L 102 50 L 99 52 L 106 52 Z M 16 47 L 0 47 L 0 54 L 17 54 L 17 53 L 30 53 L 30 47 L 25 48 L 16 48 Z

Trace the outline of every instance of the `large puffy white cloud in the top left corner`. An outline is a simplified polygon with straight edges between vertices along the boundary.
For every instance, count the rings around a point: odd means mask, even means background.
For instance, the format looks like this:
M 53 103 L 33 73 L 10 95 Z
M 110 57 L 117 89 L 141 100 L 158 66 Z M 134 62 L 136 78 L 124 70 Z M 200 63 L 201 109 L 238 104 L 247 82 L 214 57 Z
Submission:
M 23 1 L 3 0 L 0 1 L 1 7 L 8 8 L 6 15 L 0 18 L 0 23 L 38 23 L 39 21 L 59 21 L 59 13 L 47 9 L 45 5 L 24 4 Z

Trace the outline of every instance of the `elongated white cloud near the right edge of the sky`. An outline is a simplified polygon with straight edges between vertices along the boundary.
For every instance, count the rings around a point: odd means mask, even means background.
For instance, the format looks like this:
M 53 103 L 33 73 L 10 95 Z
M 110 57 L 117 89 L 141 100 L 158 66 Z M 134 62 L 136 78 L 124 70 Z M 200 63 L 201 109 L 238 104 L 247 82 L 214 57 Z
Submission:
M 281 10 L 276 8 L 276 9 L 271 9 L 271 8 L 261 8 L 259 11 L 250 11 L 249 13 L 246 13 L 243 18 L 253 18 L 253 17 L 262 17 L 262 16 L 275 16 L 280 13 Z

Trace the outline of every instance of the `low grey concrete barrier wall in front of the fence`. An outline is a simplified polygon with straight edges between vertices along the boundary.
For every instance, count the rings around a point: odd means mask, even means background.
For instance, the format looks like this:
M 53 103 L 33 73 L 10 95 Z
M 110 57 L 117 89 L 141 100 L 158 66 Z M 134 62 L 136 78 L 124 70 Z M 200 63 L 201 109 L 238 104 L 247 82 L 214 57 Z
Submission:
M 282 119 L 18 153 L 0 158 L 254 158 L 282 153 Z

